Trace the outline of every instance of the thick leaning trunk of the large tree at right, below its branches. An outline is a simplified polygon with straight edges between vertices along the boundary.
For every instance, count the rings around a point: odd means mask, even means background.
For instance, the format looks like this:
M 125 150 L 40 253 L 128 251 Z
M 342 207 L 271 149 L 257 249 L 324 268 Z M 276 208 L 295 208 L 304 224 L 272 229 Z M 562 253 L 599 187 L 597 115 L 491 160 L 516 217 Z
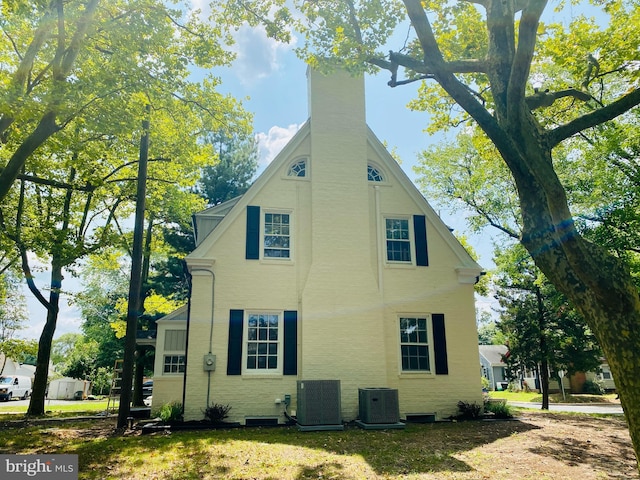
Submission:
M 636 456 L 640 453 L 640 296 L 627 266 L 576 230 L 551 151 L 528 132 L 510 163 L 523 216 L 522 244 L 575 305 L 596 335 L 620 393 Z M 515 137 L 515 135 L 514 135 Z M 512 137 L 512 138 L 514 138 Z M 514 144 L 516 142 L 514 141 Z

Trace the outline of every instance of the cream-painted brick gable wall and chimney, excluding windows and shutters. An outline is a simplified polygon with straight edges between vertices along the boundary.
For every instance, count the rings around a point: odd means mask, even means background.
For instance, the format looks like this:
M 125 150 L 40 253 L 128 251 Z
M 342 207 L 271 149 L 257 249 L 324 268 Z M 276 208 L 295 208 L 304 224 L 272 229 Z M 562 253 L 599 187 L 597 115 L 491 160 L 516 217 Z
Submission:
M 456 413 L 459 400 L 481 402 L 473 286 L 459 283 L 455 272 L 473 263 L 427 216 L 429 266 L 386 264 L 384 216 L 428 209 L 409 193 L 406 179 L 392 174 L 389 158 L 367 143 L 362 81 L 341 78 L 336 92 L 335 79 L 316 80 L 310 135 L 288 158 L 276 159 L 279 170 L 236 205 L 238 214 L 226 219 L 210 250 L 199 252 L 215 260 L 215 282 L 207 272 L 193 272 L 187 419 L 202 418 L 208 399 L 231 405 L 233 421 L 256 415 L 283 420 L 276 399 L 291 395 L 295 409 L 298 379 L 339 379 L 345 420 L 357 416 L 359 387 L 397 388 L 402 415 L 437 412 L 444 418 Z M 300 155 L 310 155 L 308 178 L 286 178 Z M 366 180 L 368 161 L 386 168 L 377 193 Z M 290 261 L 245 260 L 247 202 L 291 210 Z M 227 376 L 230 309 L 296 310 L 298 375 Z M 432 313 L 445 315 L 449 374 L 402 374 L 398 316 Z M 211 374 L 202 368 L 209 349 L 217 355 Z

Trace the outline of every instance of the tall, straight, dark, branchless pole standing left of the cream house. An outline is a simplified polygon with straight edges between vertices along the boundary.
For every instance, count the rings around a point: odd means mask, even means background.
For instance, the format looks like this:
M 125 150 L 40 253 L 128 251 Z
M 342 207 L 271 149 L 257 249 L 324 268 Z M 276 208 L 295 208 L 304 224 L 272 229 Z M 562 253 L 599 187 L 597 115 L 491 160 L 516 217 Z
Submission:
M 118 407 L 118 428 L 127 425 L 131 413 L 131 385 L 136 353 L 136 333 L 138 317 L 142 313 L 140 292 L 142 290 L 142 237 L 144 234 L 144 210 L 147 194 L 147 160 L 149 158 L 149 115 L 151 108 L 147 105 L 147 117 L 142 121 L 142 137 L 140 138 L 140 158 L 138 162 L 138 188 L 136 191 L 136 216 L 133 227 L 133 249 L 131 254 L 131 280 L 129 282 L 129 308 L 127 309 L 127 333 L 124 345 L 124 362 L 122 366 L 122 390 Z

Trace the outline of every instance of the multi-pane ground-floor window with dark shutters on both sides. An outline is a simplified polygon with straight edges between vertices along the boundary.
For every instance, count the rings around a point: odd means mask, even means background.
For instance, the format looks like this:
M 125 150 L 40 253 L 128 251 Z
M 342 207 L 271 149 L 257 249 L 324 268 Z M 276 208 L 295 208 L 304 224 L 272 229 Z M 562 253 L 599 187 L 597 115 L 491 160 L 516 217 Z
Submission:
M 250 313 L 247 321 L 247 370 L 277 370 L 279 315 Z

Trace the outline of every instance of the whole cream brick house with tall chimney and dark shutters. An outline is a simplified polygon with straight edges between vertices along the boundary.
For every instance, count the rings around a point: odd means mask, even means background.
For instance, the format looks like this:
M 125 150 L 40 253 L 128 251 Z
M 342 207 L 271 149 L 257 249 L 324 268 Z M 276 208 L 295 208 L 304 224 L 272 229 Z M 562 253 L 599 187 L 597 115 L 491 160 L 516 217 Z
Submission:
M 341 421 L 359 389 L 397 390 L 401 418 L 481 403 L 481 268 L 367 127 L 363 79 L 308 76 L 306 124 L 242 197 L 195 215 L 189 308 L 158 321 L 154 408 L 282 423 L 310 380 L 340 381 Z

